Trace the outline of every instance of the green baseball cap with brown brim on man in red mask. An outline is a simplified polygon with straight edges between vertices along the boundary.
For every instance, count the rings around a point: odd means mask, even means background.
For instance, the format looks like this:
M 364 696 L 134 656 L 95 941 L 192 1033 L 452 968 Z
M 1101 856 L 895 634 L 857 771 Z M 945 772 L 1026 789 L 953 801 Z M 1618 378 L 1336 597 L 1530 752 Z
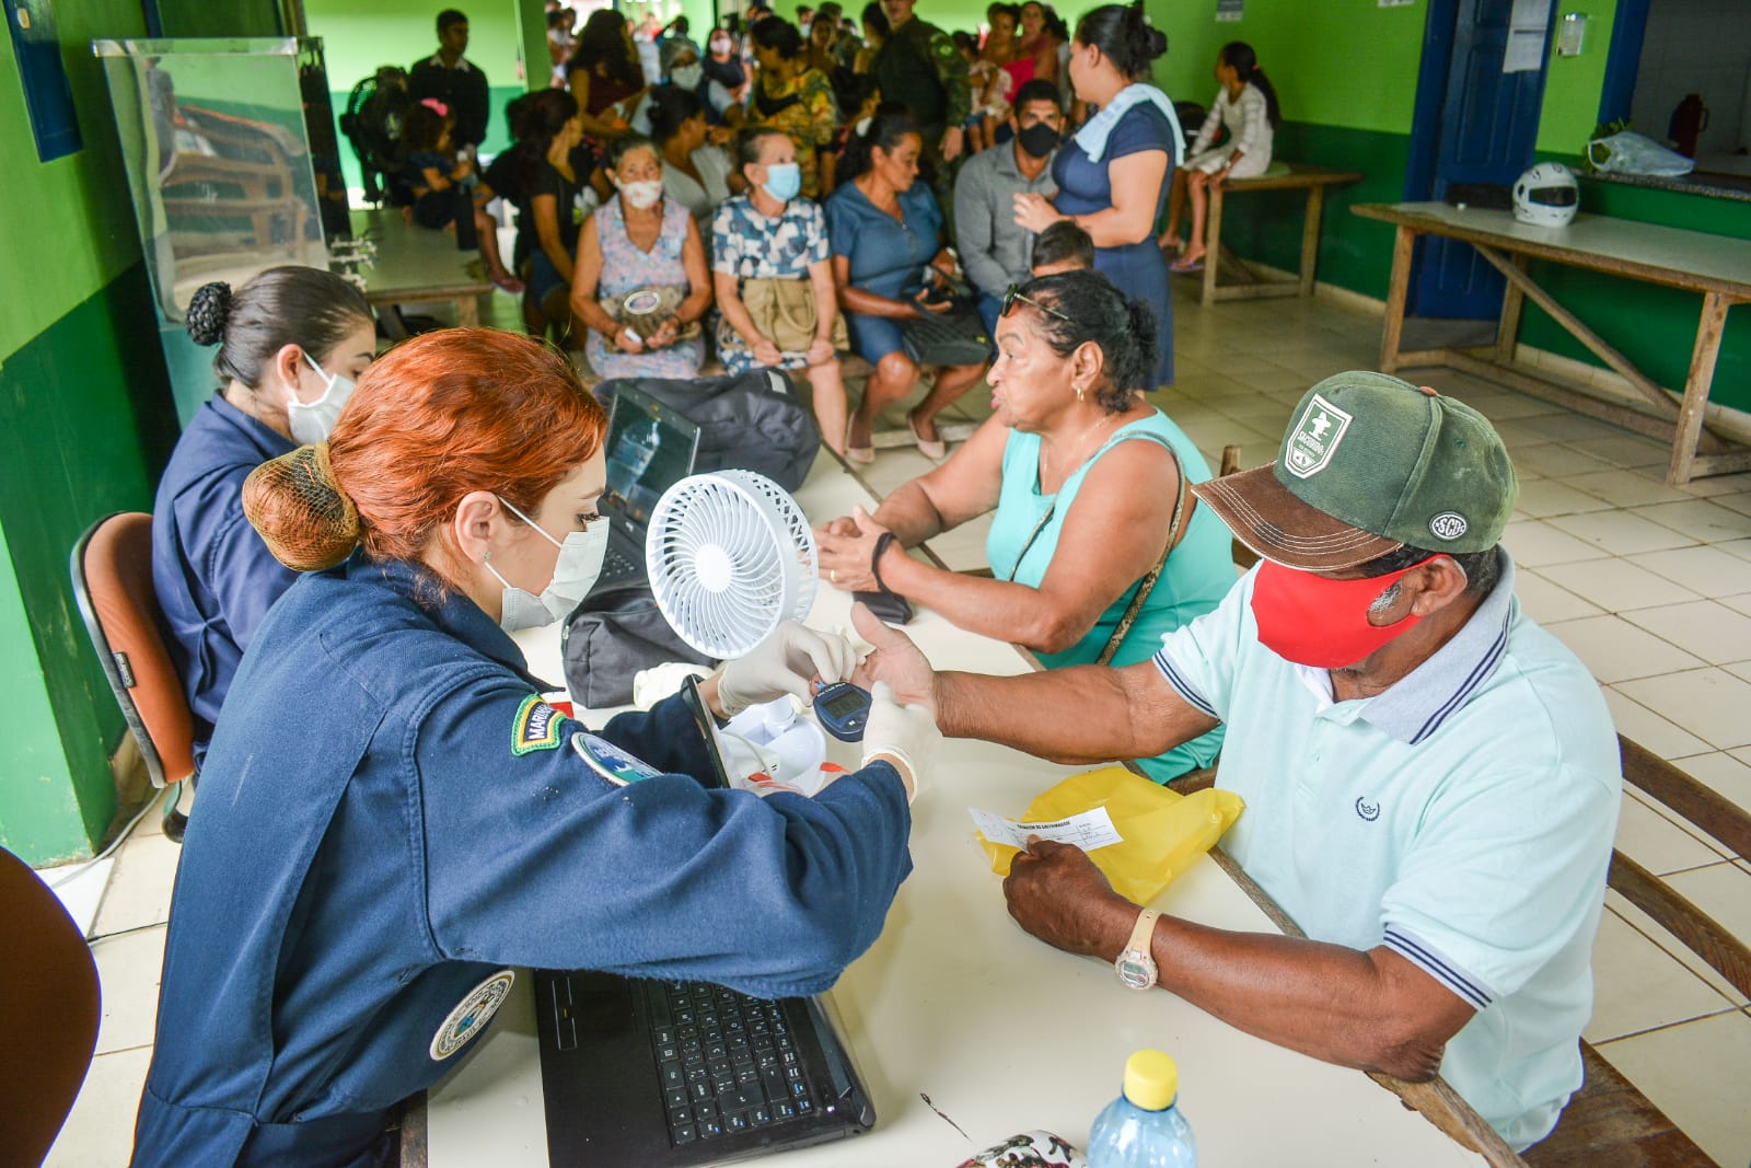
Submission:
M 1354 371 L 1301 396 L 1276 462 L 1192 494 L 1264 559 L 1338 571 L 1406 545 L 1494 548 L 1520 483 L 1487 417 L 1427 385 Z

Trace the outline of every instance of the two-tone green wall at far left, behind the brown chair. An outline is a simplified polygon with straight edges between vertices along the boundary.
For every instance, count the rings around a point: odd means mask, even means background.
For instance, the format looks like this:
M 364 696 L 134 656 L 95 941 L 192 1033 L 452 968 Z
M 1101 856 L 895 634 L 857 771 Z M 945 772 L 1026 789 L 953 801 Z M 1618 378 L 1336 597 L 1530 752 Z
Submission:
M 95 37 L 145 33 L 133 0 L 58 5 L 84 149 L 37 161 L 11 39 L 0 39 L 0 256 L 28 296 L 0 313 L 0 846 L 30 863 L 89 855 L 110 827 L 116 709 L 67 574 L 100 515 L 151 508 L 175 436 L 145 268 Z M 23 285 L 18 285 L 23 287 Z

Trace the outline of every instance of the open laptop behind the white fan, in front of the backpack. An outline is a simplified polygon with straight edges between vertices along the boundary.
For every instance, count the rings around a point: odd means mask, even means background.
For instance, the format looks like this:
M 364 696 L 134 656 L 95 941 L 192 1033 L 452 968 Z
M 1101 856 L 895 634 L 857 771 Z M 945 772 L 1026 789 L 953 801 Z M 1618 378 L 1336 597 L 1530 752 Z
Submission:
M 644 580 L 644 532 L 662 492 L 693 473 L 699 424 L 630 385 L 618 385 L 608 408 L 608 490 L 599 511 L 608 517 L 601 592 Z

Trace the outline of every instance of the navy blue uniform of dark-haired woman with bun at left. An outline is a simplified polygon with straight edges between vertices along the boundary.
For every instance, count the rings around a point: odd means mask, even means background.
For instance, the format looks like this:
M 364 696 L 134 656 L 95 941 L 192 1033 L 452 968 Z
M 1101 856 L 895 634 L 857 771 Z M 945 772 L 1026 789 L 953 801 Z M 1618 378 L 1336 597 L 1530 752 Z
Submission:
M 214 394 L 182 431 L 158 483 L 152 587 L 194 711 L 196 763 L 249 639 L 298 580 L 243 517 L 243 480 L 291 448 L 289 438 Z

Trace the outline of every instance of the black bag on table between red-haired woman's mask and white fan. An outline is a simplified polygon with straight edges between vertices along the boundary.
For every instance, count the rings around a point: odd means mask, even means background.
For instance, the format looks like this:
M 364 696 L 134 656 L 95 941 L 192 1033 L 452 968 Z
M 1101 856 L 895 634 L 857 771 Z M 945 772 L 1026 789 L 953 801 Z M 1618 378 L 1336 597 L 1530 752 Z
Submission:
M 632 700 L 632 674 L 662 662 L 713 665 L 683 641 L 657 608 L 648 583 L 629 583 L 585 597 L 560 634 L 566 688 L 590 709 Z

